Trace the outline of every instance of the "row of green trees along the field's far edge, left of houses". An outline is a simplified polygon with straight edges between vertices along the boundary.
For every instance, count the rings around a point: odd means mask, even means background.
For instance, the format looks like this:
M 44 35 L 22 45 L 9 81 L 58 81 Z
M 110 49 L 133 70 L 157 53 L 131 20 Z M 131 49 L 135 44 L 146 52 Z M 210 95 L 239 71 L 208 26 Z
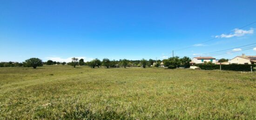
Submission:
M 91 68 L 98 67 L 100 68 L 101 66 L 105 66 L 106 68 L 119 68 L 119 67 L 160 67 L 161 62 L 164 63 L 164 66 L 168 67 L 169 69 L 175 69 L 178 67 L 184 67 L 184 68 L 189 68 L 189 62 L 190 62 L 189 57 L 170 57 L 168 59 L 164 60 L 153 60 L 153 59 L 141 59 L 141 60 L 128 60 L 128 59 L 120 59 L 120 60 L 109 60 L 108 58 L 102 59 L 94 59 L 89 62 L 84 62 L 84 59 L 78 59 L 73 57 L 72 61 L 69 63 L 66 62 L 56 62 L 52 60 L 48 60 L 47 62 L 42 62 L 41 59 L 39 58 L 30 58 L 25 60 L 25 62 L 22 63 L 17 63 L 17 62 L 1 62 L 0 67 L 33 67 L 34 69 L 40 66 L 45 65 L 71 65 L 74 68 L 77 65 L 87 65 Z

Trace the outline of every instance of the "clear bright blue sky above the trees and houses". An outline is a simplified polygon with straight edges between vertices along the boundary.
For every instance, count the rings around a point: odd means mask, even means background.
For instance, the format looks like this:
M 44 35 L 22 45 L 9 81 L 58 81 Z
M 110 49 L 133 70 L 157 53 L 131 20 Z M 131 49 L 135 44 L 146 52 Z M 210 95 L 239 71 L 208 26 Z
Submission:
M 0 61 L 163 59 L 188 46 L 175 56 L 234 48 L 256 43 L 256 24 L 237 29 L 256 21 L 255 5 L 256 0 L 0 0 Z M 242 53 L 256 50 L 213 57 Z

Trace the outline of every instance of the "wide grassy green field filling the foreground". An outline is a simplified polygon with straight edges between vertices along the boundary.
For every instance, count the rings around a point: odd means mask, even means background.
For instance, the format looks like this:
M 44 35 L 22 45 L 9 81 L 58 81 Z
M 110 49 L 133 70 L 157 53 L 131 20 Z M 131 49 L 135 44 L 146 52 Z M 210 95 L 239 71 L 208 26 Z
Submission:
M 256 73 L 0 68 L 0 119 L 256 119 Z

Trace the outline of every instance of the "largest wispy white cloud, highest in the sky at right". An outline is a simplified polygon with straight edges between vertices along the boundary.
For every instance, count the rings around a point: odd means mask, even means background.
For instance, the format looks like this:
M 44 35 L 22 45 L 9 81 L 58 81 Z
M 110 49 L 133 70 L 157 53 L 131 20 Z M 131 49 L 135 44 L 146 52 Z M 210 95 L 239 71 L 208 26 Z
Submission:
M 221 35 L 217 35 L 215 36 L 215 38 L 232 38 L 232 37 L 241 37 L 244 36 L 246 34 L 253 34 L 254 30 L 252 28 L 250 28 L 250 30 L 246 31 L 246 30 L 242 30 L 242 29 L 234 29 L 234 33 L 231 34 L 221 34 Z

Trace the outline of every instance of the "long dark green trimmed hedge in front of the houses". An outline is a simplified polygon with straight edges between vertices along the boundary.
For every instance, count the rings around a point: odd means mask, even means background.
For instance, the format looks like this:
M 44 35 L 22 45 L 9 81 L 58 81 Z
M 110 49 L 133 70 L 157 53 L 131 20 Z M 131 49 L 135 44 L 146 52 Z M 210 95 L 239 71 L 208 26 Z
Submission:
M 219 64 L 195 64 L 195 66 L 205 70 L 220 69 Z M 251 66 L 254 68 L 256 64 L 222 64 L 222 70 L 251 71 Z

